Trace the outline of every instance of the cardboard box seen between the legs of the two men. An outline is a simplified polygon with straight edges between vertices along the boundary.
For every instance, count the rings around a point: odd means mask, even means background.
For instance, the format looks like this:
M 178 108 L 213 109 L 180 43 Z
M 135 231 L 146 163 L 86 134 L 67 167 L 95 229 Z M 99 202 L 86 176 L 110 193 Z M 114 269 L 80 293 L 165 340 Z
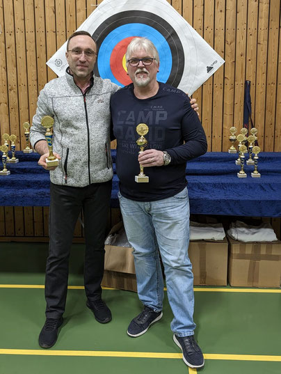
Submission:
M 119 222 L 111 229 L 109 235 L 118 233 L 122 228 Z M 105 246 L 104 277 L 102 286 L 136 292 L 136 271 L 131 247 Z

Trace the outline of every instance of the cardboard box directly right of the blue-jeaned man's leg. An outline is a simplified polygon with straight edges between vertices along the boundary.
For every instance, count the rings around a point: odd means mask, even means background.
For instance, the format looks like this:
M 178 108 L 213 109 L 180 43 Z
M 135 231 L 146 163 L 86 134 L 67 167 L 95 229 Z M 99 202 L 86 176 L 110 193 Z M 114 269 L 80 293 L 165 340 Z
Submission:
M 193 267 L 195 286 L 227 285 L 226 238 L 221 242 L 196 240 L 189 242 L 188 256 Z

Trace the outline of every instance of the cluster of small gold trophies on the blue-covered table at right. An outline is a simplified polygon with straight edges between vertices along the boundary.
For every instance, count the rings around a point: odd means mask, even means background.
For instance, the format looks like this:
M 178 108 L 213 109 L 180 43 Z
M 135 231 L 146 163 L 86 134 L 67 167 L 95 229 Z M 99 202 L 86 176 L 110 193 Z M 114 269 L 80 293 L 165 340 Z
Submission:
M 259 146 L 255 146 L 257 141 L 257 129 L 252 127 L 250 130 L 249 137 L 246 137 L 248 134 L 248 130 L 246 127 L 241 129 L 240 134 L 236 136 L 236 127 L 230 127 L 230 142 L 232 143 L 228 153 L 237 153 L 236 148 L 234 147 L 234 143 L 237 140 L 238 143 L 238 152 L 239 157 L 236 159 L 235 164 L 240 165 L 241 169 L 237 173 L 238 178 L 247 178 L 247 174 L 244 171 L 244 164 L 245 164 L 245 153 L 249 153 L 249 158 L 246 161 L 247 165 L 254 165 L 254 171 L 251 173 L 252 178 L 260 178 L 260 173 L 257 171 L 257 160 L 259 159 L 258 154 L 261 151 Z M 248 148 L 245 146 L 246 141 L 248 142 Z M 254 157 L 252 155 L 254 154 Z

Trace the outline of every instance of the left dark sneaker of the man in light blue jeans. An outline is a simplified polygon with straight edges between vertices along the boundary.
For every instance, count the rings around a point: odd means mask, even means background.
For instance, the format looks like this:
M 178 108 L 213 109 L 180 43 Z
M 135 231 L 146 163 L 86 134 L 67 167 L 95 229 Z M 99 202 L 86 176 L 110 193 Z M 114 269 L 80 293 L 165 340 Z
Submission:
M 134 320 L 131 320 L 131 323 L 129 324 L 127 330 L 127 334 L 129 336 L 132 336 L 133 338 L 145 334 L 150 325 L 160 320 L 162 318 L 162 315 L 163 313 L 161 311 L 154 312 L 153 309 L 145 306 L 145 309 L 143 309 L 143 311 L 139 315 L 137 315 Z

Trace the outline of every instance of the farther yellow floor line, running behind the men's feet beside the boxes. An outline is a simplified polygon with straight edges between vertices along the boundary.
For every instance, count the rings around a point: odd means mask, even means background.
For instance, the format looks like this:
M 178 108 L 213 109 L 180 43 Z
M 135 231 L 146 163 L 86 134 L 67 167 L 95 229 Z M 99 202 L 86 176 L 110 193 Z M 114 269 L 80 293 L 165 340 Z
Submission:
M 0 284 L 0 288 L 45 288 L 42 284 Z M 116 290 L 116 288 L 102 287 L 104 290 Z M 68 286 L 69 290 L 83 290 L 84 286 Z M 164 288 L 167 290 L 167 288 Z M 275 288 L 194 288 L 194 292 L 212 293 L 281 293 L 281 289 Z

